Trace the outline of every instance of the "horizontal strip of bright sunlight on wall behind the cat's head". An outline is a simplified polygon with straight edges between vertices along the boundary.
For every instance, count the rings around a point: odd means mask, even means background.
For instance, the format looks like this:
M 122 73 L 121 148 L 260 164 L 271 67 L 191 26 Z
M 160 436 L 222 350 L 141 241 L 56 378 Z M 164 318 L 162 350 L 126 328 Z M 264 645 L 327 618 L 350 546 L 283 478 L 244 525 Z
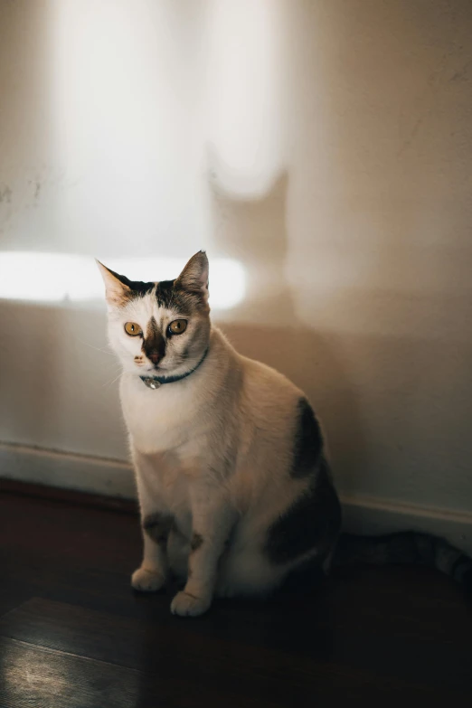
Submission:
M 132 280 L 176 278 L 184 262 L 174 258 L 104 258 L 102 262 Z M 246 274 L 241 263 L 214 259 L 210 264 L 212 309 L 236 307 L 244 298 Z M 0 298 L 37 303 L 104 301 L 104 288 L 93 259 L 66 253 L 0 253 Z

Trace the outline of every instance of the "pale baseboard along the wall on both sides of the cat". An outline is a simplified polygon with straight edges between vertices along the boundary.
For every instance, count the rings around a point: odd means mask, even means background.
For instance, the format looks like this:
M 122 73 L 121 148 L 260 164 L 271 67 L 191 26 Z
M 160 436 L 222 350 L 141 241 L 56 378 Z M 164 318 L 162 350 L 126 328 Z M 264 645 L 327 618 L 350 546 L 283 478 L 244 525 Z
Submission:
M 0 444 L 0 477 L 93 495 L 136 499 L 133 470 L 122 460 Z M 470 513 L 369 496 L 341 496 L 341 501 L 347 531 L 367 535 L 404 529 L 435 533 L 472 555 Z

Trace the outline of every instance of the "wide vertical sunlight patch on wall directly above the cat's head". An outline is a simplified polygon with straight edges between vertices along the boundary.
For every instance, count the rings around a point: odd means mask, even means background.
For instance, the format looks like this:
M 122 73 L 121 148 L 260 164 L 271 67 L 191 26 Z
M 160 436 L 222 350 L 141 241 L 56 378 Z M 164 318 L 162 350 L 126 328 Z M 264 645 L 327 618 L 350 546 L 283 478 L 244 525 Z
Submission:
M 174 0 L 52 0 L 52 8 L 53 134 L 72 185 L 57 194 L 64 251 L 80 243 L 90 254 L 99 244 L 120 256 L 174 256 L 193 239 L 209 245 L 194 203 L 196 82 L 184 8 Z

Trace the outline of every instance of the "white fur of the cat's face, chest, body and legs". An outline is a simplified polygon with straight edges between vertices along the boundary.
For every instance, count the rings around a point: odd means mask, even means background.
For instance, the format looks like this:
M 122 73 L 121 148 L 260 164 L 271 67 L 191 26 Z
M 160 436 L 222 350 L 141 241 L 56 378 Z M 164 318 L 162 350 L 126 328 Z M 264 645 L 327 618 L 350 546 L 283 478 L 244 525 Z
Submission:
M 172 514 L 178 529 L 170 533 L 166 550 L 144 533 L 143 562 L 132 584 L 158 590 L 170 565 L 186 579 L 172 611 L 199 615 L 214 593 L 267 593 L 303 560 L 274 565 L 263 552 L 270 524 L 308 485 L 289 474 L 303 393 L 280 373 L 238 354 L 215 327 L 186 364 L 193 368 L 209 345 L 194 373 L 156 391 L 147 388 L 139 375 L 152 365 L 146 357 L 135 361 L 140 341 L 128 337 L 123 325 L 133 321 L 146 331 L 151 316 L 165 327 L 178 314 L 157 307 L 153 294 L 125 307 L 113 305 L 109 339 L 123 363 L 120 397 L 142 518 Z M 202 317 L 208 316 L 189 319 L 187 341 Z M 162 365 L 169 373 L 184 371 L 183 365 L 172 369 L 172 353 L 170 363 L 166 359 Z M 203 543 L 190 552 L 193 533 Z

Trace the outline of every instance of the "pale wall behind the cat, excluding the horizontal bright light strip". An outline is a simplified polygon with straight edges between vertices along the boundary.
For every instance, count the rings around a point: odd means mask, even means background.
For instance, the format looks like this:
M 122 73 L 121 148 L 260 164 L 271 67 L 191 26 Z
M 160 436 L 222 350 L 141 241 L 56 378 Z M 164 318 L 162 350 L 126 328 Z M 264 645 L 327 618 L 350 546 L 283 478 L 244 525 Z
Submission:
M 217 319 L 345 494 L 472 512 L 471 36 L 469 0 L 2 3 L 1 250 L 241 263 Z M 125 458 L 104 308 L 37 289 L 0 439 Z

